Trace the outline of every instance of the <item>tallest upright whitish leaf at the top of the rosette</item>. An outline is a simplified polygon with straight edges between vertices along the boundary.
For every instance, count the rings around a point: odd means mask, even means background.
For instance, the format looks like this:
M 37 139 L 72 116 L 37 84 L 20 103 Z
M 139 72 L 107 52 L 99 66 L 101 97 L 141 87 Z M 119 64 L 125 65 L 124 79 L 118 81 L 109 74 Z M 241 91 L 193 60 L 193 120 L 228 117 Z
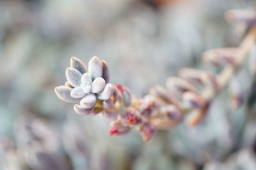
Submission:
M 93 79 L 102 76 L 102 64 L 98 57 L 94 56 L 90 59 L 88 64 L 88 73 L 92 75 Z

